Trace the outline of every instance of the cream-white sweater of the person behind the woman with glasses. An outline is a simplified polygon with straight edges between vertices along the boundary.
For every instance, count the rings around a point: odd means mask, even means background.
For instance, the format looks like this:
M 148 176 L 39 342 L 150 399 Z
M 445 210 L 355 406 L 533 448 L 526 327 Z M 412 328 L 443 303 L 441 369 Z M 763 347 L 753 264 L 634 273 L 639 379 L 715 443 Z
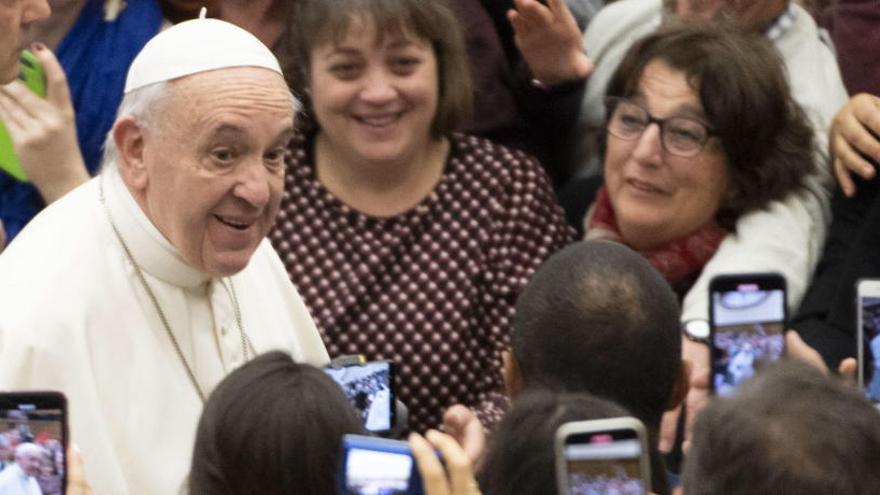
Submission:
M 737 235 L 728 235 L 706 265 L 682 304 L 682 320 L 708 318 L 708 286 L 720 273 L 778 271 L 788 282 L 788 303 L 797 308 L 813 268 L 821 255 L 833 187 L 827 163 L 828 130 L 847 94 L 832 51 L 822 43 L 816 23 L 792 3 L 794 24 L 774 45 L 785 62 L 795 100 L 810 117 L 820 148 L 820 175 L 811 178 L 812 194 L 791 195 L 767 210 L 744 215 Z M 662 23 L 661 0 L 620 0 L 602 9 L 584 34 L 584 49 L 595 69 L 581 106 L 581 127 L 602 131 L 602 99 L 611 76 L 626 51 L 636 41 L 656 31 Z M 598 172 L 599 160 L 587 164 Z

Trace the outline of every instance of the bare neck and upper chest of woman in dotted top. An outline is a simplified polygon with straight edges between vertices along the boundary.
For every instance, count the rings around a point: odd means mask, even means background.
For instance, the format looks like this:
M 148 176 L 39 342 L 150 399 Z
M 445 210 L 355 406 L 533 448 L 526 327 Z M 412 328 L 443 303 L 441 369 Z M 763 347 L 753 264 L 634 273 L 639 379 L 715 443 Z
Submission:
M 413 208 L 440 181 L 449 152 L 445 138 L 431 139 L 414 156 L 395 162 L 371 162 L 344 156 L 319 133 L 315 145 L 318 181 L 352 208 L 390 217 Z

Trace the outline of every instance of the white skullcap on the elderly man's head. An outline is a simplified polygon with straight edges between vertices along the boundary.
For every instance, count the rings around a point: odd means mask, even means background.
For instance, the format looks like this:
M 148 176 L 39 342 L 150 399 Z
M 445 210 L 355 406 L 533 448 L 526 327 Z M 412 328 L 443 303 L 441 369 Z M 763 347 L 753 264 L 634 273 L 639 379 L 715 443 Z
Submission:
M 218 19 L 193 19 L 162 31 L 144 45 L 128 69 L 125 93 L 230 67 L 263 67 L 281 74 L 278 59 L 256 36 Z

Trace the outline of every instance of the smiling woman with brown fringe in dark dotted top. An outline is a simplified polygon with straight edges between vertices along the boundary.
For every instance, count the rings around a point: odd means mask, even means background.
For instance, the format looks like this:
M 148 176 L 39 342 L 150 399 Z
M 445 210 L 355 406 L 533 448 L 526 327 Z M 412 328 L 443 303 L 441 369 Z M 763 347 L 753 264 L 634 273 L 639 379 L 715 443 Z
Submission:
M 297 8 L 287 76 L 305 113 L 270 239 L 331 356 L 397 363 L 412 429 L 455 403 L 492 421 L 516 296 L 572 237 L 549 181 L 454 132 L 471 85 L 445 1 Z

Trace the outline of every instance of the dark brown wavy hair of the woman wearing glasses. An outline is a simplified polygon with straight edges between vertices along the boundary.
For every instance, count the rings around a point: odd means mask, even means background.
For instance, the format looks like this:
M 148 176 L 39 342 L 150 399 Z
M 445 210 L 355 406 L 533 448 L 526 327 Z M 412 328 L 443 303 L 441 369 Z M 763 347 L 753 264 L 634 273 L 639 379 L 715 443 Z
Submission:
M 740 215 L 804 188 L 816 169 L 813 128 L 765 36 L 723 23 L 661 29 L 630 48 L 608 96 L 632 96 L 655 61 L 686 75 L 720 139 L 730 185 L 719 225 L 733 230 Z

